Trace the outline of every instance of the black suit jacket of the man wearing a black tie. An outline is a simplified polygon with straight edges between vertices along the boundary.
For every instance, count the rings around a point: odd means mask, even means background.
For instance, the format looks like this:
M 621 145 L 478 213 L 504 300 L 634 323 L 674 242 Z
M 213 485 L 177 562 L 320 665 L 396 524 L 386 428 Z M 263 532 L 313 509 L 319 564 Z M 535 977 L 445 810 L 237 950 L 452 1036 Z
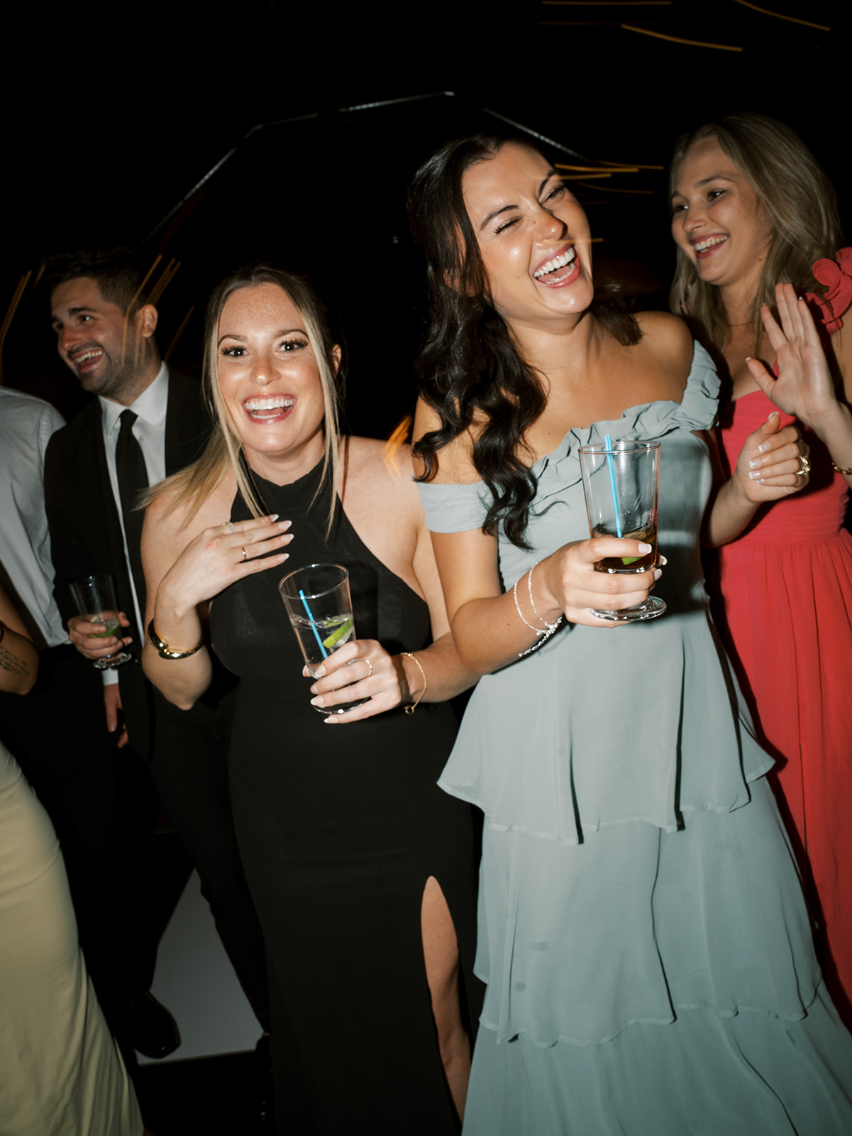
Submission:
M 201 383 L 171 370 L 165 435 L 167 475 L 197 458 L 210 435 Z M 44 503 L 56 574 L 53 594 L 62 619 L 67 623 L 77 615 L 68 588 L 71 580 L 102 571 L 112 573 L 115 577 L 118 605 L 130 619 L 126 632 L 133 636 L 130 650 L 137 655 L 134 662 L 118 669 L 121 704 L 133 749 L 150 760 L 153 744 L 151 688 L 138 661 L 144 628 L 136 626 L 134 616 L 98 399 L 51 437 L 44 459 Z

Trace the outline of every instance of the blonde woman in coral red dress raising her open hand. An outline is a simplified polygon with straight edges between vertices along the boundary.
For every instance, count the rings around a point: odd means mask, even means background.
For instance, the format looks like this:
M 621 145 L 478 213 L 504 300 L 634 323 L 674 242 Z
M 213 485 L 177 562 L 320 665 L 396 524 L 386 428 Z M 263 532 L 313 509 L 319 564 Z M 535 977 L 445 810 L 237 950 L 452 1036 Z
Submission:
M 723 461 L 733 468 L 770 414 L 779 412 L 779 426 L 798 419 L 810 446 L 808 487 L 759 509 L 719 550 L 718 590 L 740 682 L 776 759 L 770 776 L 800 853 L 824 970 L 850 1024 L 852 536 L 843 521 L 852 332 L 842 317 L 852 303 L 852 250 L 836 252 L 828 178 L 771 118 L 733 115 L 682 137 L 672 190 L 673 307 L 699 325 L 729 381 Z M 785 333 L 796 329 L 807 339 L 804 385 L 774 378 L 757 361 L 781 362 L 784 375 Z

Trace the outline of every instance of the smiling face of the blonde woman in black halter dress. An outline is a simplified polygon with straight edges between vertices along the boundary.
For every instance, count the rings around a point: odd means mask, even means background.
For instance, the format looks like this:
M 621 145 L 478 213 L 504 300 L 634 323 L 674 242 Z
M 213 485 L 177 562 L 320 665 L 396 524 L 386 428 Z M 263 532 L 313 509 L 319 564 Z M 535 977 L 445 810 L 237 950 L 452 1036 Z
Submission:
M 339 362 L 339 348 L 334 356 Z M 323 454 L 322 381 L 305 320 L 281 287 L 231 292 L 216 369 L 221 407 L 251 468 L 278 484 L 310 473 Z

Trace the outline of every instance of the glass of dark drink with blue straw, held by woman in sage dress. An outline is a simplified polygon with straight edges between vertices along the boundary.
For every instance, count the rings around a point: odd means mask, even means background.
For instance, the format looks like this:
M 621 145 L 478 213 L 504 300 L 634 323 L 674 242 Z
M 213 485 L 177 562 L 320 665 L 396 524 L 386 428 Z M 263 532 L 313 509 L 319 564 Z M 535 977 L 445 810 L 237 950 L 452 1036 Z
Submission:
M 659 442 L 616 442 L 580 448 L 585 508 L 592 536 L 642 541 L 651 551 L 641 557 L 606 557 L 594 568 L 606 573 L 644 573 L 657 567 Z M 666 604 L 656 595 L 621 611 L 592 609 L 614 623 L 661 616 Z

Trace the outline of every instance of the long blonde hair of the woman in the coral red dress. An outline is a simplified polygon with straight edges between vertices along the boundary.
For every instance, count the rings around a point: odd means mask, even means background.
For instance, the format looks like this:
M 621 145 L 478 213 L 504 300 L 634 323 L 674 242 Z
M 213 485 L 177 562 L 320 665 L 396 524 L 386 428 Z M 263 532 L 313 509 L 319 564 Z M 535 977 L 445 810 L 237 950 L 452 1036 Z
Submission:
M 767 115 L 743 111 L 706 123 L 675 144 L 669 167 L 669 190 L 677 189 L 677 173 L 694 142 L 715 137 L 757 194 L 771 222 L 769 251 L 760 274 L 749 318 L 753 324 L 753 352 L 764 333 L 760 306 L 775 307 L 775 285 L 788 282 L 802 292 L 823 294 L 825 287 L 811 272 L 816 260 L 833 257 L 841 245 L 837 200 L 827 174 L 795 131 Z M 686 253 L 677 249 L 677 268 L 669 294 L 672 311 L 687 315 L 724 350 L 731 339 L 718 287 L 699 278 Z

